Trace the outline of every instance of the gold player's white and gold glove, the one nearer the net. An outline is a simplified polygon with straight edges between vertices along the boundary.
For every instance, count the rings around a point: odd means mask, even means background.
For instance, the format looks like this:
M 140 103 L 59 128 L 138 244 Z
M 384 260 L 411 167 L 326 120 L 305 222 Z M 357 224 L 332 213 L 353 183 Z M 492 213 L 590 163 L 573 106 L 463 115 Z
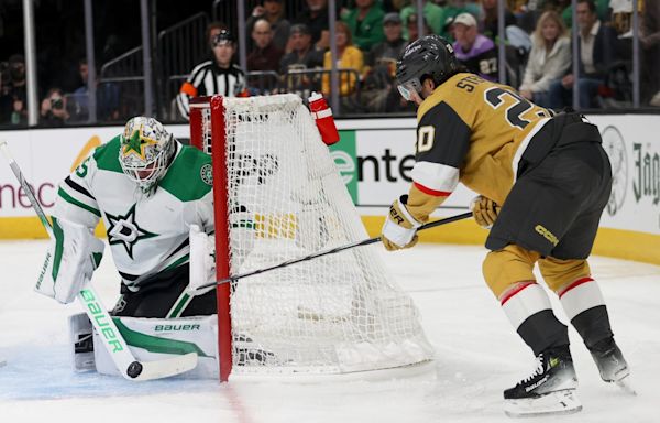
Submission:
M 381 240 L 388 251 L 410 248 L 418 241 L 417 228 L 421 226 L 406 208 L 407 195 L 402 195 L 389 206 L 389 216 L 383 225 Z

